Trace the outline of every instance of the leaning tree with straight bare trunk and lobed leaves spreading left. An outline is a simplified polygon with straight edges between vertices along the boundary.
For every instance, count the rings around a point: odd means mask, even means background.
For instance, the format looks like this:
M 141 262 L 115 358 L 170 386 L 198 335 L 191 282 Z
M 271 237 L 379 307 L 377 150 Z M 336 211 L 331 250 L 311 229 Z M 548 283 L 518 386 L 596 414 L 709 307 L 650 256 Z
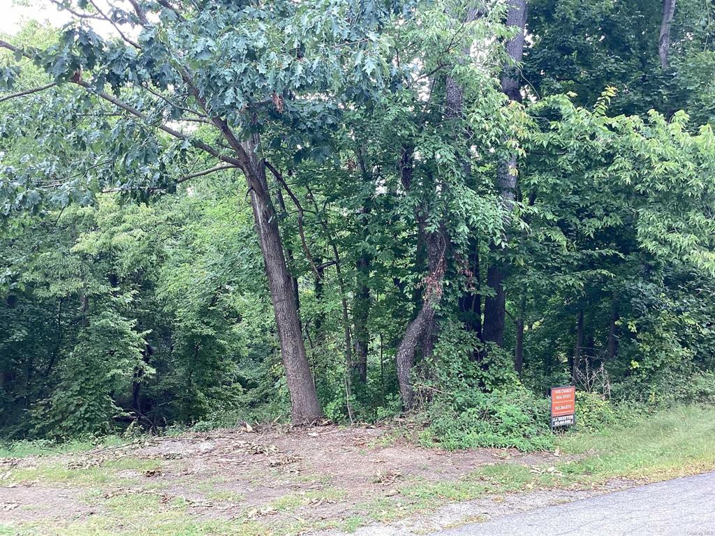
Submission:
M 107 114 L 114 117 L 94 125 L 109 134 L 102 138 L 105 143 L 96 138 L 77 139 L 74 147 L 66 148 L 66 159 L 50 164 L 49 159 L 39 158 L 32 173 L 23 170 L 21 177 L 11 177 L 10 187 L 31 189 L 32 202 L 39 202 L 48 187 L 79 196 L 112 184 L 127 192 L 140 189 L 149 194 L 197 175 L 240 169 L 250 192 L 275 309 L 292 420 L 315 421 L 322 412 L 266 179 L 262 154 L 270 141 L 263 137 L 272 122 L 315 121 L 316 116 L 320 121 L 320 114 L 334 113 L 342 101 L 340 88 L 355 88 L 358 99 L 368 93 L 384 68 L 380 51 L 386 44 L 370 31 L 388 13 L 341 1 L 314 6 L 285 2 L 257 10 L 238 4 L 187 8 L 168 2 L 132 2 L 133 9 L 116 8 L 111 13 L 95 4 L 92 8 L 83 11 L 74 6 L 71 12 L 79 14 L 77 22 L 64 31 L 59 44 L 47 49 L 0 41 L 16 56 L 41 64 L 51 76 L 49 84 L 36 88 L 51 91 L 54 97 L 46 109 L 56 109 L 60 96 L 69 95 L 70 101 L 74 99 L 70 106 L 74 114 L 81 110 L 94 119 Z M 109 21 L 120 39 L 108 41 L 97 35 L 87 24 L 97 17 Z M 332 24 L 337 20 L 340 24 Z M 127 27 L 136 27 L 138 36 L 131 36 Z M 354 54 L 360 57 L 357 63 L 352 60 Z M 107 86 L 112 93 L 104 91 Z M 321 92 L 333 99 L 332 104 L 326 107 L 312 99 Z M 188 121 L 202 128 L 191 133 Z M 78 123 L 69 121 L 64 127 L 71 131 Z M 207 136 L 217 136 L 217 142 L 207 142 Z M 76 151 L 86 147 L 92 148 L 93 162 L 80 169 L 94 169 L 94 177 L 82 171 L 72 176 L 69 169 L 74 162 L 69 159 L 77 158 Z M 89 162 L 84 156 L 84 162 Z M 214 162 L 203 171 L 184 172 L 183 177 L 173 173 L 179 164 L 197 158 Z M 78 175 L 84 176 L 77 181 Z M 21 199 L 26 197 L 15 197 L 14 203 Z

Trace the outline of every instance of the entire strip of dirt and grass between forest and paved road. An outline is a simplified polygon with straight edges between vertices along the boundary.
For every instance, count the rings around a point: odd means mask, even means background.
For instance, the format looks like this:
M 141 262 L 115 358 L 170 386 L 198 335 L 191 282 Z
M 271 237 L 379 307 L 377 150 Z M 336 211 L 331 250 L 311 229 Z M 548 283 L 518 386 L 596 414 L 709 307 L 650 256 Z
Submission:
M 715 468 L 715 409 L 563 435 L 550 452 L 444 452 L 395 427 L 189 432 L 0 452 L 0 535 L 425 535 Z

